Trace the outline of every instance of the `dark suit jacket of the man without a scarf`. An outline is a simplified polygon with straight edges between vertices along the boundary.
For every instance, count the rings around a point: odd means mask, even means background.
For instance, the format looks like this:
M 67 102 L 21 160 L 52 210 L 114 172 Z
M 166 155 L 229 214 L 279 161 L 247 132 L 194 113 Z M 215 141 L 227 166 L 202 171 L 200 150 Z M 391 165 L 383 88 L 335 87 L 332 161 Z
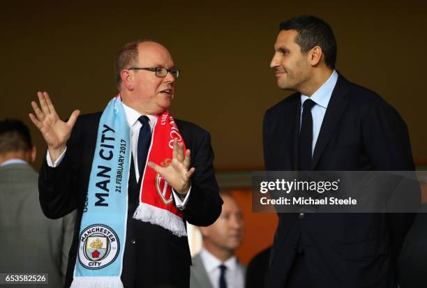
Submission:
M 264 116 L 265 168 L 298 170 L 301 95 Z M 414 170 L 407 127 L 380 96 L 339 75 L 313 153 L 313 170 Z M 315 287 L 396 287 L 396 258 L 414 214 L 279 213 L 267 287 L 283 287 L 297 245 Z M 301 238 L 300 238 L 301 235 Z

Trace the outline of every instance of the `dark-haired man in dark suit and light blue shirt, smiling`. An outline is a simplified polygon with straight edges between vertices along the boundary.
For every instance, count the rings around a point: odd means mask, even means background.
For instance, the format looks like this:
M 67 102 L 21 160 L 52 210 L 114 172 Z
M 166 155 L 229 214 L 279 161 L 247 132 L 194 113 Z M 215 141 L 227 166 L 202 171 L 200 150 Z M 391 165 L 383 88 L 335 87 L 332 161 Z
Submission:
M 414 170 L 398 112 L 334 69 L 326 22 L 306 15 L 283 22 L 274 50 L 278 86 L 296 93 L 264 116 L 267 170 Z M 266 287 L 396 287 L 396 259 L 413 219 L 279 213 Z

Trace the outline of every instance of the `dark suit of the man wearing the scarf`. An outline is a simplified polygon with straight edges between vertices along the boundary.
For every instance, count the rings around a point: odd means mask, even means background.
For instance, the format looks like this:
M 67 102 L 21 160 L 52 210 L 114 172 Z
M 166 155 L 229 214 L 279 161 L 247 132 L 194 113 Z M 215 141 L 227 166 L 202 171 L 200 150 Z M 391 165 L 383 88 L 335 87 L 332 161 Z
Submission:
M 101 113 L 82 115 L 77 119 L 67 143 L 66 155 L 58 167 L 40 171 L 40 204 L 49 218 L 59 218 L 77 208 L 77 220 L 66 284 L 73 280 L 77 256 L 77 236 L 86 200 L 89 175 L 96 145 Z M 183 215 L 197 226 L 211 225 L 220 215 L 222 200 L 213 172 L 213 151 L 209 133 L 202 128 L 176 119 L 177 126 L 191 150 L 191 192 Z M 132 218 L 139 204 L 133 163 L 128 185 L 128 224 L 121 280 L 124 287 L 188 287 L 190 250 L 186 237 L 174 236 L 163 227 Z

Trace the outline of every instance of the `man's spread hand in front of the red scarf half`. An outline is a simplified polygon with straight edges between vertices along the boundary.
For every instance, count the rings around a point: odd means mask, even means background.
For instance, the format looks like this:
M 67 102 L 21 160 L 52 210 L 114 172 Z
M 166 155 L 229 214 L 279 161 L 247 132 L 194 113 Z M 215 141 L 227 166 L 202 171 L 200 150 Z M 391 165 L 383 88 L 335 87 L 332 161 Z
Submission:
M 172 152 L 172 161 L 167 167 L 161 167 L 154 162 L 148 162 L 147 165 L 154 169 L 160 176 L 169 183 L 181 195 L 186 195 L 190 188 L 190 177 L 193 175 L 195 168 L 188 169 L 190 166 L 190 150 L 186 150 L 183 155 L 183 144 L 174 139 L 174 150 Z

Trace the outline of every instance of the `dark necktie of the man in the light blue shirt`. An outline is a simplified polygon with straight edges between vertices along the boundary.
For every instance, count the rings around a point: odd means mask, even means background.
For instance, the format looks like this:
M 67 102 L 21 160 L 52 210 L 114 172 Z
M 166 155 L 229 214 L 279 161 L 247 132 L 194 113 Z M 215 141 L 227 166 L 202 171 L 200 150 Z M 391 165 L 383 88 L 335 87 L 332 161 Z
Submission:
M 313 116 L 311 108 L 316 103 L 307 99 L 303 104 L 301 117 L 301 130 L 299 131 L 299 170 L 309 171 L 311 169 L 312 145 L 313 145 Z

